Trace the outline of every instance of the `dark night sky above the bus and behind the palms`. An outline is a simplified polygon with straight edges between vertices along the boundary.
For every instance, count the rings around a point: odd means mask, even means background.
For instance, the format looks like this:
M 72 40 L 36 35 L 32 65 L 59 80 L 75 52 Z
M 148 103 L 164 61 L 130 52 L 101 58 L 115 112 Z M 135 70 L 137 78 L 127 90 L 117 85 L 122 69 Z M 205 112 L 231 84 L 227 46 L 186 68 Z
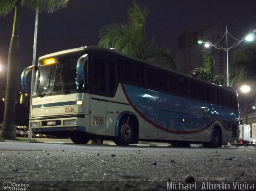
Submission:
M 149 7 L 146 36 L 158 47 L 176 51 L 178 35 L 206 23 L 226 26 L 237 39 L 256 29 L 256 0 L 137 0 Z M 124 23 L 132 0 L 69 0 L 66 8 L 52 14 L 42 12 L 38 20 L 39 56 L 81 46 L 97 46 L 103 26 Z M 14 10 L 0 18 L 0 65 L 6 70 Z M 20 10 L 20 67 L 32 65 L 35 12 Z M 6 86 L 6 71 L 0 71 L 0 89 Z M 20 84 L 20 80 L 18 82 Z M 17 86 L 21 90 L 21 85 Z

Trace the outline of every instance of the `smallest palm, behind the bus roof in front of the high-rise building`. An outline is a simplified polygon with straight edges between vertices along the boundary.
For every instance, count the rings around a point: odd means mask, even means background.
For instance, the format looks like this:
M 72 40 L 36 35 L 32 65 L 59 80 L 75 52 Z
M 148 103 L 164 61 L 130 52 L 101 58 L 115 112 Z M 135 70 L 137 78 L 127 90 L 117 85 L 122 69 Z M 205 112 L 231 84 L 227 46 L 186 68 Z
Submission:
M 224 85 L 224 76 L 214 74 L 215 61 L 210 52 L 203 50 L 204 67 L 194 69 L 190 75 L 198 79 L 208 81 L 217 85 Z

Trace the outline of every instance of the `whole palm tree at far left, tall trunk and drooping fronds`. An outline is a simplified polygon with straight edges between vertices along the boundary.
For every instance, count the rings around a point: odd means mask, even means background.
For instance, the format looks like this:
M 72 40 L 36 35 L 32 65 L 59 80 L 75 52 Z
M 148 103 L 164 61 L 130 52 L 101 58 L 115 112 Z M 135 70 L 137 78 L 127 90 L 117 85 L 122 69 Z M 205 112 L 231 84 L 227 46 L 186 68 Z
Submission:
M 16 100 L 16 81 L 17 70 L 19 65 L 19 10 L 20 6 L 28 6 L 36 9 L 39 7 L 40 11 L 46 10 L 53 12 L 60 8 L 64 8 L 68 0 L 0 0 L 0 16 L 9 14 L 13 8 L 14 22 L 12 29 L 12 38 L 8 54 L 8 68 L 7 68 L 7 84 L 5 95 L 5 109 L 4 120 L 2 125 L 1 137 L 5 139 L 15 139 L 14 122 L 15 122 L 15 100 Z

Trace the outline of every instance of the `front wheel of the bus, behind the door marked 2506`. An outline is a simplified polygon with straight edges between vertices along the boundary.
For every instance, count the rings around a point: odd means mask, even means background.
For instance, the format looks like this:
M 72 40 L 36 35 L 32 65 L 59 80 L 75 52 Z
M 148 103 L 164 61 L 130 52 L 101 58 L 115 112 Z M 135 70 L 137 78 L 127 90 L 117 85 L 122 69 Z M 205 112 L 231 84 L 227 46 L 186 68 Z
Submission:
M 126 146 L 132 143 L 134 138 L 134 126 L 132 120 L 121 118 L 118 127 L 118 137 L 114 139 L 116 145 Z

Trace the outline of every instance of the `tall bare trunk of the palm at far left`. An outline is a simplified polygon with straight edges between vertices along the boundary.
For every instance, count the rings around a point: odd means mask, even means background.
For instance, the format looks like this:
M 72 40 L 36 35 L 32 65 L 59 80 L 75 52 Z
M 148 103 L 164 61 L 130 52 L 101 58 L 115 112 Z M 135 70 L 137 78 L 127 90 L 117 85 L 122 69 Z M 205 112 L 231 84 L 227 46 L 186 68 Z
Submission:
M 16 81 L 19 65 L 19 10 L 20 0 L 15 6 L 12 38 L 10 42 L 7 68 L 7 85 L 5 95 L 4 120 L 1 136 L 4 139 L 15 139 L 15 101 L 16 101 Z

